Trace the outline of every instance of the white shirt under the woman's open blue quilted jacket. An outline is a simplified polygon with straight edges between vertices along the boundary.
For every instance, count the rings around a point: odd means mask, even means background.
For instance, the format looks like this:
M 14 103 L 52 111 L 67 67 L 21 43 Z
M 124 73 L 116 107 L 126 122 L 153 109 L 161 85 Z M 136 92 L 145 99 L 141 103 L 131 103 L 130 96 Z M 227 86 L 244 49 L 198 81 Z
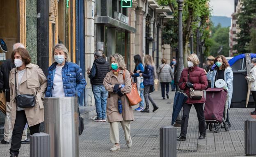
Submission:
M 56 66 L 53 77 L 52 97 L 65 97 L 62 81 L 62 68 L 63 66 Z

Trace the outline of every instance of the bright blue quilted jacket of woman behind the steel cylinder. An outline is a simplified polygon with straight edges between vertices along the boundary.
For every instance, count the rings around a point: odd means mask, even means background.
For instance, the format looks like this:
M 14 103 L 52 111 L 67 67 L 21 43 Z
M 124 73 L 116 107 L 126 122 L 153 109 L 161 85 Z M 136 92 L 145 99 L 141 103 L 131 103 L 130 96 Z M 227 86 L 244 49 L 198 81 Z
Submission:
M 57 66 L 57 62 L 53 63 L 48 68 L 47 75 L 47 88 L 45 97 L 52 96 L 52 88 L 53 88 L 53 79 L 55 74 L 55 68 Z M 72 62 L 66 62 L 64 67 L 62 68 L 62 81 L 63 88 L 66 97 L 80 97 L 83 89 L 86 86 L 85 77 L 82 74 L 82 69 Z

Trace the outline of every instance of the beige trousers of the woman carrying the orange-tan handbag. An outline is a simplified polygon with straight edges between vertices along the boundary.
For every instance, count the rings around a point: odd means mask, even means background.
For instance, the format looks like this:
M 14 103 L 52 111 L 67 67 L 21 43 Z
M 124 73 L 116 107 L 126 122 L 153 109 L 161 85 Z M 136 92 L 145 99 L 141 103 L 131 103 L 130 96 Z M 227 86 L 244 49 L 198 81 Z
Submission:
M 126 141 L 130 139 L 130 121 L 123 120 L 120 121 L 121 126 L 123 127 L 124 136 Z M 111 122 L 110 123 L 110 141 L 112 144 L 119 144 L 119 122 Z

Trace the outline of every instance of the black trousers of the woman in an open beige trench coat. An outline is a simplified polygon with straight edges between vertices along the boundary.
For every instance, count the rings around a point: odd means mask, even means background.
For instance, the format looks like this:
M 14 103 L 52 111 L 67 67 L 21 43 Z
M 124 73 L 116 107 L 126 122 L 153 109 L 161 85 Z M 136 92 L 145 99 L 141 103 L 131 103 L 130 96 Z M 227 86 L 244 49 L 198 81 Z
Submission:
M 18 155 L 19 149 L 21 148 L 21 137 L 23 130 L 25 128 L 25 125 L 27 123 L 27 117 L 25 115 L 25 111 L 17 111 L 16 112 L 16 119 L 14 123 L 14 129 L 12 131 L 11 136 L 11 148 L 10 152 L 14 153 L 14 155 Z M 34 133 L 39 133 L 40 124 L 30 126 L 30 135 L 33 135 Z

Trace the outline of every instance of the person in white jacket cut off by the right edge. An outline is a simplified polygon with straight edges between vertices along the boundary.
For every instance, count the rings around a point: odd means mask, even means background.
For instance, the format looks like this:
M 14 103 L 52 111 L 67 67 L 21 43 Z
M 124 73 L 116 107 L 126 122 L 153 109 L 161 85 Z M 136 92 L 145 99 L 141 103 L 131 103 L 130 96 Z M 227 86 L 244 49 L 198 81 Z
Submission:
M 255 103 L 255 111 L 251 112 L 251 115 L 256 115 L 256 58 L 251 59 L 251 68 L 249 76 L 245 79 L 251 83 L 251 94 Z

